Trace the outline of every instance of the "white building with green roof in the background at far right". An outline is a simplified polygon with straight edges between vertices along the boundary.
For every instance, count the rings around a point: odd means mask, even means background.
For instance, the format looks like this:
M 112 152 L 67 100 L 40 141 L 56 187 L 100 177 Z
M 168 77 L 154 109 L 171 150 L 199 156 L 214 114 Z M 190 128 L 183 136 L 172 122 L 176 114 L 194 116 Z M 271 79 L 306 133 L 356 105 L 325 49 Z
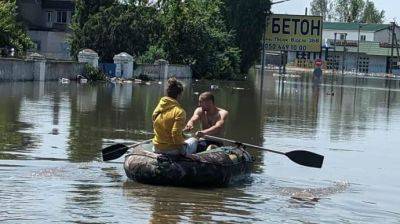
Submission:
M 395 28 L 397 39 L 400 29 Z M 304 61 L 322 58 L 328 69 L 358 70 L 364 73 L 386 73 L 392 52 L 391 24 L 358 24 L 325 22 L 322 32 L 322 53 L 289 52 L 288 61 L 313 65 Z M 394 45 L 396 46 L 396 44 Z M 397 50 L 393 51 L 397 57 Z M 397 60 L 396 60 L 397 61 Z M 392 64 L 394 70 L 399 66 Z

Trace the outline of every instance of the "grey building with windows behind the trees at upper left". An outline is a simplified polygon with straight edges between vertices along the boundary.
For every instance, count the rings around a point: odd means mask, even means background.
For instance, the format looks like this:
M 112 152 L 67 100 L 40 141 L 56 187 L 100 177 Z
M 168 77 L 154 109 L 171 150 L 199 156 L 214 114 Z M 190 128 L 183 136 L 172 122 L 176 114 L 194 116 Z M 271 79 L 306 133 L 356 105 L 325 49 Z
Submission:
M 17 0 L 17 5 L 35 50 L 48 58 L 70 59 L 67 37 L 74 1 Z

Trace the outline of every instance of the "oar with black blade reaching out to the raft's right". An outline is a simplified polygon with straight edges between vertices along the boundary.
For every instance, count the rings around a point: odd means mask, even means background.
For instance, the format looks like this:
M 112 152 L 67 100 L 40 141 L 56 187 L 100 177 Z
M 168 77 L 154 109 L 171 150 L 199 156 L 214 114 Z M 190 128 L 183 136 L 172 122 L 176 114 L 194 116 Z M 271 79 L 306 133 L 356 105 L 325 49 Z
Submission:
M 264 151 L 268 151 L 268 152 L 272 152 L 272 153 L 285 155 L 290 160 L 292 160 L 293 162 L 295 162 L 297 164 L 300 164 L 300 165 L 303 165 L 303 166 L 321 168 L 322 167 L 322 163 L 324 162 L 324 156 L 316 154 L 316 153 L 313 153 L 313 152 L 309 152 L 309 151 L 295 150 L 295 151 L 291 151 L 291 152 L 286 152 L 285 153 L 285 152 L 275 151 L 275 150 L 272 150 L 272 149 L 266 149 L 266 148 L 263 148 L 263 147 L 260 147 L 260 146 L 257 146 L 257 145 L 241 143 L 241 142 L 237 142 L 237 141 L 234 141 L 234 140 L 215 137 L 215 136 L 211 136 L 211 135 L 205 135 L 204 137 L 206 139 L 210 139 L 210 140 L 229 142 L 229 143 L 233 143 L 233 144 L 244 145 L 244 146 L 255 148 L 255 149 L 260 149 L 260 150 L 264 150 Z

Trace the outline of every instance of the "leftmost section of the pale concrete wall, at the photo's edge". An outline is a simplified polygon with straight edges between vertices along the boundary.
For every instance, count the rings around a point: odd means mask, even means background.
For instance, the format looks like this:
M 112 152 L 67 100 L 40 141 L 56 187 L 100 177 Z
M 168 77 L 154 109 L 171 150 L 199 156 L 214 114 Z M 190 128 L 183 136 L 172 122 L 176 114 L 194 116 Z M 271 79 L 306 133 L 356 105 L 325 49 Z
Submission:
M 0 58 L 0 81 L 33 81 L 33 61 Z

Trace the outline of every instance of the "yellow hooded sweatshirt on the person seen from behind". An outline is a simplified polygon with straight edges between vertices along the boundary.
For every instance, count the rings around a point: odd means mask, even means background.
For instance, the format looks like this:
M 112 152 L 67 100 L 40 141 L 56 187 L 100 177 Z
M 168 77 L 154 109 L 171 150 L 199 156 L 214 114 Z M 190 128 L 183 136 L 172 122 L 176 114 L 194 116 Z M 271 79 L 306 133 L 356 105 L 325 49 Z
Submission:
M 162 97 L 153 112 L 154 147 L 164 152 L 182 149 L 185 122 L 186 112 L 178 101 L 171 97 Z

